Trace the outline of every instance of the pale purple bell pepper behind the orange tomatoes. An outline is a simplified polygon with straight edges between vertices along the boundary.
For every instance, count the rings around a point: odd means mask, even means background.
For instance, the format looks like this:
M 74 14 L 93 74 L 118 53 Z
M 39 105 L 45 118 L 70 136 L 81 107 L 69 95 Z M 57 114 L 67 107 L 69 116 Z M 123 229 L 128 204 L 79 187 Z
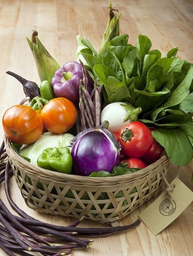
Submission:
M 75 104 L 79 103 L 79 83 L 80 80 L 83 80 L 82 68 L 80 63 L 72 61 L 67 62 L 55 72 L 52 86 L 57 97 L 70 99 Z M 91 93 L 93 80 L 86 69 L 85 72 L 88 78 L 87 90 Z

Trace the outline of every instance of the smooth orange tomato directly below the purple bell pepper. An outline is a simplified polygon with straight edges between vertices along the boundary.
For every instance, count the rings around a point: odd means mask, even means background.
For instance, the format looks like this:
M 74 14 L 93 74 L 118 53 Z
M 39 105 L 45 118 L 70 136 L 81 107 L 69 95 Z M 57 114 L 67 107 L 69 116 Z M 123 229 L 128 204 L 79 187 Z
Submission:
M 70 130 L 77 120 L 75 105 L 63 97 L 51 99 L 40 115 L 46 130 L 57 134 Z

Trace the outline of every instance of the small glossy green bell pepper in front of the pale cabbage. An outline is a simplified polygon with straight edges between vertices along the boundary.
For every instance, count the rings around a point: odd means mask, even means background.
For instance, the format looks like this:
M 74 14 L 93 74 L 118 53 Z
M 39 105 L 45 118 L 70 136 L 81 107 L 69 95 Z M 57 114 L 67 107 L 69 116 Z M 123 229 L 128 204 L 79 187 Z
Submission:
M 71 174 L 72 156 L 64 148 L 46 148 L 37 159 L 37 165 L 47 170 Z

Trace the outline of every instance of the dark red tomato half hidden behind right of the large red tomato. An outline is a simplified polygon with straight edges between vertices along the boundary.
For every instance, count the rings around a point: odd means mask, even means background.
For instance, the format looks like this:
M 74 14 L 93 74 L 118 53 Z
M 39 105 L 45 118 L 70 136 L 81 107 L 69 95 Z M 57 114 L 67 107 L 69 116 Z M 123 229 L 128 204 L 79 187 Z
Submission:
M 153 131 L 154 128 L 149 128 L 150 131 Z M 153 138 L 153 145 L 151 149 L 143 156 L 141 159 L 145 161 L 145 163 L 154 163 L 158 159 L 160 159 L 164 148 L 160 146 L 160 144 Z

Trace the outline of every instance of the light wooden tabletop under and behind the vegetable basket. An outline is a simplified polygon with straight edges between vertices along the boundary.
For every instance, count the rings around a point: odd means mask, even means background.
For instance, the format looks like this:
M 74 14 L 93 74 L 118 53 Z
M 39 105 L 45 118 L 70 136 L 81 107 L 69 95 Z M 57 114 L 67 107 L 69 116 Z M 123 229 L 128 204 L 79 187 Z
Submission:
M 0 117 L 4 111 L 18 104 L 24 93 L 22 86 L 5 72 L 10 70 L 39 84 L 35 62 L 26 36 L 32 29 L 51 55 L 59 62 L 75 60 L 76 35 L 80 34 L 99 49 L 107 23 L 108 0 L 1 0 L 0 1 Z M 174 46 L 179 46 L 178 56 L 193 62 L 193 2 L 191 0 L 114 0 L 114 8 L 123 10 L 121 33 L 129 34 L 134 44 L 138 34 L 147 35 L 152 49 L 159 49 L 163 56 Z M 3 138 L 0 125 L 0 140 Z M 180 168 L 180 179 L 193 190 L 192 166 Z M 175 177 L 176 167 L 171 165 L 170 176 Z M 1 199 L 9 207 L 0 186 Z M 27 214 L 35 218 L 67 225 L 72 219 L 41 214 L 29 209 L 20 194 L 14 178 L 11 178 L 13 200 Z M 121 221 L 121 225 L 132 223 L 138 214 L 154 199 L 148 201 Z M 10 207 L 9 207 L 10 208 Z M 11 212 L 13 210 L 11 209 Z M 149 216 L 151 218 L 151 216 Z M 92 221 L 83 221 L 81 226 L 101 227 Z M 149 256 L 149 255 L 193 255 L 193 204 L 163 230 L 154 236 L 141 223 L 136 229 L 107 238 L 95 238 L 90 249 L 79 249 L 74 256 Z M 0 255 L 4 252 L 0 250 Z M 39 255 L 39 254 L 36 254 Z

